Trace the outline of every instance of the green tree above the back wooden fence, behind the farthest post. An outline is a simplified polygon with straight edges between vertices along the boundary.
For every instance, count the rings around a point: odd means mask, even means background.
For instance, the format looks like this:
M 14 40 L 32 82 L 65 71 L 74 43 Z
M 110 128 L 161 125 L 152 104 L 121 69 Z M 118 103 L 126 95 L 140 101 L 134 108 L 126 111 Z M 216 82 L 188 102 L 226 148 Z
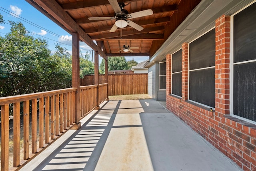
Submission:
M 126 59 L 122 56 L 108 57 L 108 71 L 113 70 L 128 70 L 128 64 Z M 100 74 L 105 73 L 105 61 L 102 60 L 100 63 Z

